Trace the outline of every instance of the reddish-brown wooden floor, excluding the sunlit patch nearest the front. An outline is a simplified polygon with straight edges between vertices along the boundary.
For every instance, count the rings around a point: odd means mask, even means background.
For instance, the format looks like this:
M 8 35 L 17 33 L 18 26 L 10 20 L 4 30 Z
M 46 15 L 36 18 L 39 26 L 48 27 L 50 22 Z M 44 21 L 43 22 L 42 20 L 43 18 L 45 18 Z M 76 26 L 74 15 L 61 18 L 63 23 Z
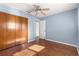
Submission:
M 25 49 L 35 52 L 35 54 L 32 54 L 34 56 L 78 56 L 75 47 L 47 41 L 45 39 L 32 41 L 28 44 L 28 47 L 26 44 L 22 44 L 2 50 L 0 51 L 0 56 L 12 56 Z

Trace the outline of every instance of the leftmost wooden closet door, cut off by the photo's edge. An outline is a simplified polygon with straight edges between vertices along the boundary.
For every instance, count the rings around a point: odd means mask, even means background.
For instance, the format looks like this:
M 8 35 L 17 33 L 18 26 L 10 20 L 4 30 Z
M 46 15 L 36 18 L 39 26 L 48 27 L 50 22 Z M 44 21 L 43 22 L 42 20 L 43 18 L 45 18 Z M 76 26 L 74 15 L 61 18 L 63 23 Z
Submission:
M 6 15 L 5 13 L 0 12 L 0 50 L 6 48 Z

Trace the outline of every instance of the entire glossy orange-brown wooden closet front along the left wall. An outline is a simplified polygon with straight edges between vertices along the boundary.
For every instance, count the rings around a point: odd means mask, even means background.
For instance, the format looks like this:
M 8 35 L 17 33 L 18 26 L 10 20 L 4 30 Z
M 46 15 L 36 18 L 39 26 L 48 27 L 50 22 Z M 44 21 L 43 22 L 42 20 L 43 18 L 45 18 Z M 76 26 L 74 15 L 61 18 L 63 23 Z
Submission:
M 0 12 L 0 50 L 28 41 L 28 19 Z

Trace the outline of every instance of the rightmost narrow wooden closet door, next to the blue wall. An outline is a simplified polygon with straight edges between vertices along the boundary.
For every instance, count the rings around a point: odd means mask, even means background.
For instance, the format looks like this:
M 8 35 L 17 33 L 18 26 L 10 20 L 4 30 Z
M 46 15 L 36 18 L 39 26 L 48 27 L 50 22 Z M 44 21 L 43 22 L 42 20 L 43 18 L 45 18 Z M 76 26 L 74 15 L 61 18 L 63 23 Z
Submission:
M 28 43 L 28 20 L 20 17 L 20 44 Z

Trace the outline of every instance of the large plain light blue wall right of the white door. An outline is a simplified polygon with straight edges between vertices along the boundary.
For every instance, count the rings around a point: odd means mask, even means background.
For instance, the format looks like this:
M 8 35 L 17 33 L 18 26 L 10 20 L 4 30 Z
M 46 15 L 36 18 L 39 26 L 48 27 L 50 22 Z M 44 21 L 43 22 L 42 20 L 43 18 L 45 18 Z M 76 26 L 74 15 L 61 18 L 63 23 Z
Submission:
M 46 20 L 46 38 L 77 44 L 77 9 L 43 18 Z

